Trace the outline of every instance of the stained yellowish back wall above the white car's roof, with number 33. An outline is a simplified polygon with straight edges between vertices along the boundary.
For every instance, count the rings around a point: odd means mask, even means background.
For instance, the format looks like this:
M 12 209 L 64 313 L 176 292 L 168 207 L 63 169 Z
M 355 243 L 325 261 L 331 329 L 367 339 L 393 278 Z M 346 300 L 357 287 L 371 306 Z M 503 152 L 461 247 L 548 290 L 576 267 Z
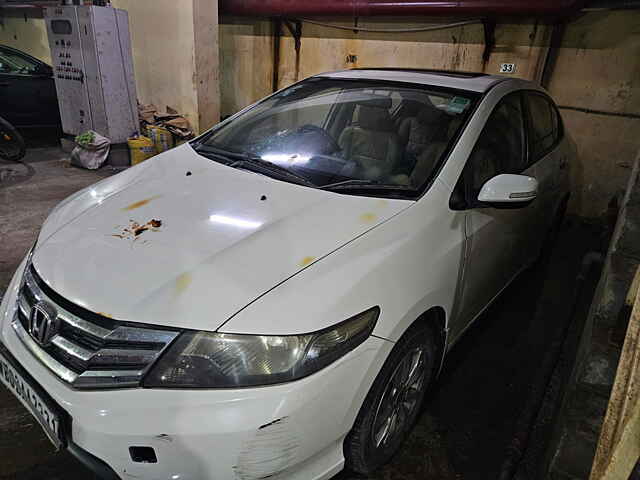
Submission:
M 318 19 L 348 27 L 348 21 Z M 451 19 L 450 21 L 459 21 Z M 446 23 L 447 20 L 439 20 Z M 360 19 L 359 26 L 379 29 L 425 27 L 433 23 L 406 19 Z M 265 20 L 222 17 L 220 25 L 222 114 L 230 115 L 272 91 L 273 26 Z M 515 62 L 515 76 L 536 79 L 542 72 L 549 28 L 534 24 L 498 25 L 496 48 L 482 61 L 482 25 L 418 33 L 353 33 L 305 23 L 300 57 L 286 27 L 280 46 L 278 88 L 330 70 L 354 67 L 414 67 L 496 73 L 502 62 Z M 347 62 L 355 55 L 355 63 Z

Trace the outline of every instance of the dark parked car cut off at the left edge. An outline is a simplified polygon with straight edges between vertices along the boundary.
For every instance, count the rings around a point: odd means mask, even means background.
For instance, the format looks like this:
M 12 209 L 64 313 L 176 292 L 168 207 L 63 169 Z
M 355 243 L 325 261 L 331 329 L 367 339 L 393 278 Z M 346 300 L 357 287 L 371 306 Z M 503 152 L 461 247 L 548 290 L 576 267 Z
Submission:
M 18 128 L 60 128 L 53 69 L 5 45 L 0 45 L 0 116 Z

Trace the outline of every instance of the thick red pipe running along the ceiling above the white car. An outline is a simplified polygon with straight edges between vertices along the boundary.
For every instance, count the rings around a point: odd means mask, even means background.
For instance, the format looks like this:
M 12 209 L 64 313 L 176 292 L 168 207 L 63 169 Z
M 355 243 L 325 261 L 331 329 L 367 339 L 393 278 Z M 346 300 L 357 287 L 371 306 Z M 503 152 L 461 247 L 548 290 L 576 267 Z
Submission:
M 220 0 L 220 12 L 253 17 L 564 16 L 577 12 L 583 4 L 583 0 Z

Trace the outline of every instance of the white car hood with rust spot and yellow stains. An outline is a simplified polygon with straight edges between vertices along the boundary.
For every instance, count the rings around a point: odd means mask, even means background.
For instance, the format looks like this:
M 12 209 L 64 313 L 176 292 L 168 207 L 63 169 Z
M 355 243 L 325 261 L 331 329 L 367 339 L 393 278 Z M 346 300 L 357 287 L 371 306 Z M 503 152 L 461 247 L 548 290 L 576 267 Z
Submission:
M 412 203 L 274 180 L 185 145 L 63 202 L 33 264 L 54 291 L 101 315 L 215 330 Z

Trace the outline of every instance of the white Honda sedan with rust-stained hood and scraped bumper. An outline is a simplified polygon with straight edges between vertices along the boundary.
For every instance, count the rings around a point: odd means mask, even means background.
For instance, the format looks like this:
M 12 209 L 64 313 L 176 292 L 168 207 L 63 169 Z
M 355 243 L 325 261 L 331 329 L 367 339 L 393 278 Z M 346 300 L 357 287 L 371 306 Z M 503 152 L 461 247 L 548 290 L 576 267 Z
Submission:
M 2 381 L 104 478 L 367 474 L 539 256 L 575 155 L 531 82 L 306 79 L 58 205 L 0 307 Z

